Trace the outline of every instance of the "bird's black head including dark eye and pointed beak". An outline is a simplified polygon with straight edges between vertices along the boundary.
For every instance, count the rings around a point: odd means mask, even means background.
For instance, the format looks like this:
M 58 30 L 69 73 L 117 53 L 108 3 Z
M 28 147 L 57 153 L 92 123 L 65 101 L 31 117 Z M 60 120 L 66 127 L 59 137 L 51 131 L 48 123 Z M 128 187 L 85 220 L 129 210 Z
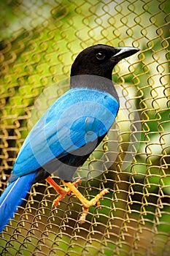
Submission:
M 109 45 L 93 45 L 77 56 L 72 64 L 71 76 L 98 75 L 112 80 L 112 69 L 121 60 L 138 52 L 138 48 L 114 48 Z

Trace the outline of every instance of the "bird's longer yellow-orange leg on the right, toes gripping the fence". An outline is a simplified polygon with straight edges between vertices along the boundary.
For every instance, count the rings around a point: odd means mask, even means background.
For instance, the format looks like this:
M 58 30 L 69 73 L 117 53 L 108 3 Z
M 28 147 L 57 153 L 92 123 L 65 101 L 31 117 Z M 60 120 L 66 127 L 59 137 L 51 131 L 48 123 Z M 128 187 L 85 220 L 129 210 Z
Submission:
M 71 191 L 82 203 L 83 212 L 82 212 L 82 216 L 80 217 L 81 223 L 85 222 L 85 217 L 88 214 L 89 207 L 95 206 L 96 204 L 99 205 L 100 204 L 99 200 L 101 199 L 101 197 L 103 197 L 105 194 L 107 194 L 109 192 L 108 189 L 103 189 L 103 190 L 101 190 L 100 193 L 98 193 L 98 195 L 96 195 L 96 197 L 94 197 L 93 199 L 91 199 L 89 201 L 79 192 L 79 190 L 74 186 L 74 184 L 72 182 L 63 181 L 63 184 L 66 187 L 69 187 L 69 191 Z

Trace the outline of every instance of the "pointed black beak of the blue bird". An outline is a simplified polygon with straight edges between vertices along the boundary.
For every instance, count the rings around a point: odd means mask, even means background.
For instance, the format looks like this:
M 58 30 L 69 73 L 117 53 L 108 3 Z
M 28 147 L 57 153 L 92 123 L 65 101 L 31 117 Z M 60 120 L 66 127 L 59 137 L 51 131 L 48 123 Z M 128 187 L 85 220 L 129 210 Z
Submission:
M 120 61 L 121 59 L 125 59 L 140 50 L 139 48 L 134 47 L 119 47 L 115 49 L 117 50 L 117 53 L 112 56 L 111 60 L 116 62 Z

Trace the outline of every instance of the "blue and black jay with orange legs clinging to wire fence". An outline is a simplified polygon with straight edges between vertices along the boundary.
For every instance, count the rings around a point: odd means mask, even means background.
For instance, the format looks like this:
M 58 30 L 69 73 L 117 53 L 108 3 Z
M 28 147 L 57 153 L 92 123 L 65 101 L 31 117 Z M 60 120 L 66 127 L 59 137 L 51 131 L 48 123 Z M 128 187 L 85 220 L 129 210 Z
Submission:
M 88 208 L 108 192 L 103 189 L 88 201 L 72 182 L 77 167 L 84 164 L 112 127 L 119 98 L 112 83 L 112 69 L 118 61 L 138 52 L 138 48 L 93 45 L 72 64 L 70 90 L 57 99 L 28 134 L 16 159 L 7 188 L 0 197 L 0 231 L 13 217 L 32 184 L 46 181 L 60 194 L 58 202 L 72 192 L 82 203 L 85 221 Z M 55 184 L 55 173 L 65 189 Z

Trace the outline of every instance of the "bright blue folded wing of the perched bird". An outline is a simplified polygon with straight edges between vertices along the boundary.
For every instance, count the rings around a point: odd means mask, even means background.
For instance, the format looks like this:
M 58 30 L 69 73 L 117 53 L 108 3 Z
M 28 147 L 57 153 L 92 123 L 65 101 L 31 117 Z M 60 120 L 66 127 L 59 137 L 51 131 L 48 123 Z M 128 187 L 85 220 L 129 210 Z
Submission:
M 118 108 L 114 97 L 95 89 L 71 89 L 63 94 L 23 143 L 11 181 L 106 134 Z

